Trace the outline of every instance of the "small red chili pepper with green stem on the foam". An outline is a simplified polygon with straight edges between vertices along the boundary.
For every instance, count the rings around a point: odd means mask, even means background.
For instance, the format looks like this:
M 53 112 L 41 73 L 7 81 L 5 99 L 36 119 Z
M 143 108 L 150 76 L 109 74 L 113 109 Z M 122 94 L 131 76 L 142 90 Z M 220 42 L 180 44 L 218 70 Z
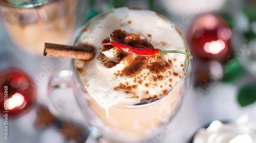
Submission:
M 118 42 L 102 43 L 102 45 L 113 45 L 124 52 L 137 55 L 137 56 L 143 56 L 143 57 L 155 57 L 165 53 L 180 53 L 180 54 L 185 54 L 191 58 L 193 57 L 190 54 L 183 51 L 162 51 L 159 49 L 140 48 L 140 47 L 133 47 L 133 46 L 126 45 L 123 43 L 118 43 Z

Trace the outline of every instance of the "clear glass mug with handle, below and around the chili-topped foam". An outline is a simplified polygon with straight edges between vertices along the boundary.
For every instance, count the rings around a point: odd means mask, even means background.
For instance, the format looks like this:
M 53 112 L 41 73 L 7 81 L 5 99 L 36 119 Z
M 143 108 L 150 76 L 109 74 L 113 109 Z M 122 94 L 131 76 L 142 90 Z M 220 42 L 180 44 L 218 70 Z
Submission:
M 91 21 L 87 22 L 83 28 L 88 28 L 91 23 L 94 23 L 95 19 L 101 18 L 111 12 L 112 11 L 97 15 Z M 75 46 L 81 44 L 81 34 L 82 33 L 80 33 L 75 40 Z M 182 40 L 186 46 L 185 49 L 188 51 L 184 38 Z M 65 110 L 58 108 L 54 105 L 55 103 L 52 102 L 54 99 L 52 92 L 56 89 L 72 86 L 76 104 L 79 106 L 84 120 L 90 127 L 96 128 L 102 137 L 101 139 L 106 142 L 157 142 L 171 128 L 170 122 L 177 113 L 181 105 L 183 94 L 190 82 L 188 56 L 183 66 L 186 77 L 164 98 L 142 105 L 111 106 L 108 109 L 109 117 L 106 115 L 105 109 L 99 106 L 83 86 L 79 71 L 77 70 L 76 61 L 76 59 L 71 60 L 72 71 L 61 71 L 62 74 L 60 73 L 57 75 L 57 78 L 55 76 L 50 80 L 49 99 L 51 111 L 59 113 L 60 115 L 65 114 Z M 54 100 L 57 101 L 56 99 Z M 108 102 L 108 100 L 111 101 L 111 97 L 109 99 L 102 99 L 100 102 L 104 104 Z M 61 113 L 59 110 L 62 110 Z

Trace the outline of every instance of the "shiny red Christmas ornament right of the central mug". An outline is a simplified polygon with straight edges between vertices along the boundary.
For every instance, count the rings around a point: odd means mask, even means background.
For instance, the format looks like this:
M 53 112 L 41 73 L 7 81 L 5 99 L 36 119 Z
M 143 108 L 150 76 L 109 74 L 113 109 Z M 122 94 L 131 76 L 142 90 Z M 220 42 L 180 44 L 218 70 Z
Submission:
M 193 56 L 224 62 L 232 54 L 231 37 L 231 29 L 223 18 L 216 14 L 204 14 L 191 24 L 186 40 Z

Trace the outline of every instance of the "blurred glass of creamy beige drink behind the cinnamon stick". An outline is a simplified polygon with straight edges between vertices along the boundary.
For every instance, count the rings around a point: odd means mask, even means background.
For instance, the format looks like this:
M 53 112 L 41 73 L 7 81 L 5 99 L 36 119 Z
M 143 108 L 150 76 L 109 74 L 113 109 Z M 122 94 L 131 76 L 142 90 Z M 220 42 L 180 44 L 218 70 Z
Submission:
M 45 42 L 67 44 L 74 40 L 76 24 L 85 21 L 86 1 L 0 1 L 1 22 L 22 50 L 42 55 Z M 83 5 L 83 13 L 79 6 Z

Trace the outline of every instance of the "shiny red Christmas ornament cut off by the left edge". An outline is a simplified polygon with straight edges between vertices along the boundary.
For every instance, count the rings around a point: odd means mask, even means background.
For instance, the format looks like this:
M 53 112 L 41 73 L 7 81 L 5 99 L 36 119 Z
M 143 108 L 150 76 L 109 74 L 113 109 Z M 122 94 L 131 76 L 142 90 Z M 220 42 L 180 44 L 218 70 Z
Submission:
M 35 101 L 36 86 L 20 70 L 8 69 L 0 75 L 0 112 L 8 117 L 26 113 Z

